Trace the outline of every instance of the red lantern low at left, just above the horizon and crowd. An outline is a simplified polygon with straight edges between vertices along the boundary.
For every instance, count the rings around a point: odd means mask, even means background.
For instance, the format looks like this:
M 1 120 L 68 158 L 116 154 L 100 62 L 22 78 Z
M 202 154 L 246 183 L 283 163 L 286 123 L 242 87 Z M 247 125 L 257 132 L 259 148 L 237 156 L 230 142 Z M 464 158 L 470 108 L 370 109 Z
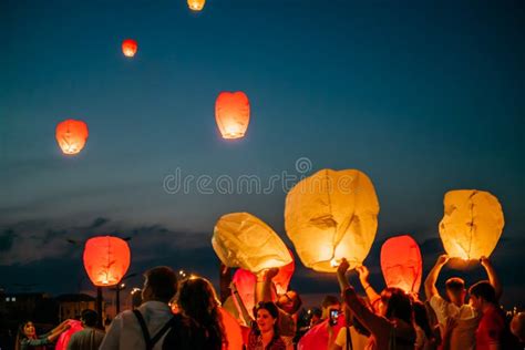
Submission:
M 85 243 L 84 268 L 97 287 L 116 285 L 126 274 L 130 259 L 130 247 L 119 237 L 100 236 Z

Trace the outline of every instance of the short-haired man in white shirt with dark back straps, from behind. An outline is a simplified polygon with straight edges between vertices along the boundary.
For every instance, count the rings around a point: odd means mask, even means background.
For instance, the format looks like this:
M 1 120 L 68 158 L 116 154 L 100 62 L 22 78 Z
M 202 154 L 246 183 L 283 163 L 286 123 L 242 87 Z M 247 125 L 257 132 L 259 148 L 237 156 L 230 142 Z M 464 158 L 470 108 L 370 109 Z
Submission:
M 143 303 L 119 313 L 110 326 L 100 350 L 161 350 L 164 337 L 178 320 L 168 302 L 177 291 L 177 276 L 166 266 L 144 274 Z

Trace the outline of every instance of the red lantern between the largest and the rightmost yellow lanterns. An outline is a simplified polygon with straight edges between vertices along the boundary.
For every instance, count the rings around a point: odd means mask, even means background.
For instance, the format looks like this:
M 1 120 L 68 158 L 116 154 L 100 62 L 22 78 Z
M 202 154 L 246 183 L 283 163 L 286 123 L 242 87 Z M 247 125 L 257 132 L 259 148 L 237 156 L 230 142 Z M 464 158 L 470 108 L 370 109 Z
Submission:
M 387 287 L 418 294 L 423 274 L 418 243 L 408 235 L 387 239 L 381 247 L 381 270 Z

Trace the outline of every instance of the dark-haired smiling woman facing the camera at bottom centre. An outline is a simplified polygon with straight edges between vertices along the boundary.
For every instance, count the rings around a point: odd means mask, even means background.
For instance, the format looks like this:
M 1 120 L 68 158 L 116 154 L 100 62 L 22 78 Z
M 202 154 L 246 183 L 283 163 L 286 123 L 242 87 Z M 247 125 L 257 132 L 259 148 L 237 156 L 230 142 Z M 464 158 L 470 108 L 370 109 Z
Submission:
M 254 308 L 254 316 L 247 350 L 294 349 L 279 336 L 279 310 L 272 301 L 259 301 Z

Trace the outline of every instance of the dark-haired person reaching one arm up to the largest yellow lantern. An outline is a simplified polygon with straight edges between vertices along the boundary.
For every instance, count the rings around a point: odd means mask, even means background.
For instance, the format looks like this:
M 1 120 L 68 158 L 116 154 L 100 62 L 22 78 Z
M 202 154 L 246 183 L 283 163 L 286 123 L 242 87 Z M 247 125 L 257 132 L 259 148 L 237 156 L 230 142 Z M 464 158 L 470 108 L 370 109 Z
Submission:
M 349 267 L 347 259 L 342 259 L 337 270 L 338 280 L 346 305 L 371 333 L 368 349 L 413 350 L 415 330 L 412 325 L 413 311 L 410 297 L 399 288 L 385 288 L 381 292 L 379 315 L 377 315 L 364 306 L 346 278 Z

